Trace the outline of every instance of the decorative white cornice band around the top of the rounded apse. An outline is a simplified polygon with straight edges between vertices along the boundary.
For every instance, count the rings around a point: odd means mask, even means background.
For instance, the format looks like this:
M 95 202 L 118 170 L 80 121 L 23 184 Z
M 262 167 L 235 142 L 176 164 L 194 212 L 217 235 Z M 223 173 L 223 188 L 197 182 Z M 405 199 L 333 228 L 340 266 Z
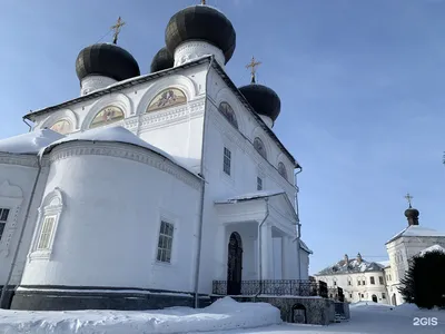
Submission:
M 50 154 L 50 164 L 75 156 L 108 156 L 148 165 L 168 173 L 178 180 L 200 189 L 200 180 L 182 167 L 146 148 L 121 143 L 67 143 L 57 146 Z

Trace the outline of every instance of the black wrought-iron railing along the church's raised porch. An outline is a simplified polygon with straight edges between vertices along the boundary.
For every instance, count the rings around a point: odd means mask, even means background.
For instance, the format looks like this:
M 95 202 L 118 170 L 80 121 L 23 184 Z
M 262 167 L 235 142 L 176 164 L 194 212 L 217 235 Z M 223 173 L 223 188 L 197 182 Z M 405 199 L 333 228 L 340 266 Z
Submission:
M 227 295 L 227 281 L 214 281 L 212 293 Z M 309 279 L 264 279 L 241 281 L 240 295 L 291 295 L 291 296 L 322 296 L 327 298 L 325 282 Z

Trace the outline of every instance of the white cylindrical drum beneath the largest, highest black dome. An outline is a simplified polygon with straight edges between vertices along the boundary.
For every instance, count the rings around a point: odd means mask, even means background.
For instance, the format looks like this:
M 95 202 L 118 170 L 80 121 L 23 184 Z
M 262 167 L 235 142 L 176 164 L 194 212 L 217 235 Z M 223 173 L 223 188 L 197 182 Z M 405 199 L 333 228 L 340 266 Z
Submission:
M 185 41 L 176 48 L 175 67 L 209 55 L 214 55 L 215 60 L 225 69 L 226 57 L 224 57 L 222 51 L 208 42 L 199 40 Z

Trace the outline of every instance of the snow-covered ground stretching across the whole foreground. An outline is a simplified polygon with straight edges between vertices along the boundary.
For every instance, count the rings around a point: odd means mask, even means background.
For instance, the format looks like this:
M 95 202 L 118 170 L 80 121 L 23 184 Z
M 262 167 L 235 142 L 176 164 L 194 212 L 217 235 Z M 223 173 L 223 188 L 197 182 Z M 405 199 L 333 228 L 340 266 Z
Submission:
M 230 298 L 209 307 L 174 307 L 162 311 L 0 311 L 0 333 L 32 334 L 445 334 L 445 311 L 422 311 L 414 305 L 350 305 L 349 322 L 329 326 L 284 324 L 277 308 L 264 303 L 237 303 Z M 437 318 L 437 325 L 415 326 L 415 318 Z

